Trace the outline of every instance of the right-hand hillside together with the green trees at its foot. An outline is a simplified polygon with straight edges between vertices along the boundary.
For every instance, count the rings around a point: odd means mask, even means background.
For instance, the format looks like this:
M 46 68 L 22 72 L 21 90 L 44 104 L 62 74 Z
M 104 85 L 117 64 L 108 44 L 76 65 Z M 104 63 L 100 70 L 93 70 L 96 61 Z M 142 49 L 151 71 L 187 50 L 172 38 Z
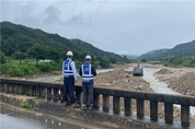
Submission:
M 195 40 L 176 45 L 172 49 L 152 50 L 148 54 L 139 56 L 138 58 L 142 60 L 142 62 L 162 62 L 167 67 L 195 68 Z

